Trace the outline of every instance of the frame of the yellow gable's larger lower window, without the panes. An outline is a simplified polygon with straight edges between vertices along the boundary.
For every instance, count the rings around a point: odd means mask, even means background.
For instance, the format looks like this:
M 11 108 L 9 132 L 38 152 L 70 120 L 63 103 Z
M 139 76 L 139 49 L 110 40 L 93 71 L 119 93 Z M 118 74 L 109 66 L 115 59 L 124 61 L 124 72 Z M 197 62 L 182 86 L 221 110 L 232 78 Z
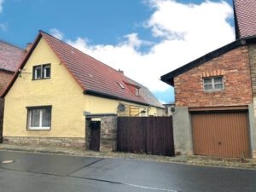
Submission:
M 26 130 L 27 131 L 50 131 L 51 130 L 51 119 L 52 119 L 52 106 L 35 106 L 35 107 L 26 107 L 27 115 L 26 115 Z M 40 117 L 39 117 L 39 126 L 31 126 L 31 110 L 32 109 L 39 109 L 40 110 Z M 43 109 L 50 109 L 49 114 L 49 126 L 42 126 L 43 124 Z M 40 126 L 41 125 L 41 126 Z

